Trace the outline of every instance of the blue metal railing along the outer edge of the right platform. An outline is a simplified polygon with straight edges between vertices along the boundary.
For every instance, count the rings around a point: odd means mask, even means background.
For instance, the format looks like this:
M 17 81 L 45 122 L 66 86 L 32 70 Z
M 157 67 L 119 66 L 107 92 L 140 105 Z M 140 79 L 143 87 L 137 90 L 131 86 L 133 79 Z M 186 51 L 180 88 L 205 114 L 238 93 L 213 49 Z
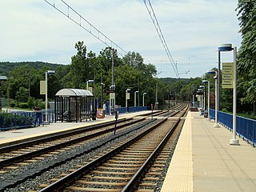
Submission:
M 215 110 L 210 109 L 210 118 L 215 119 Z M 218 111 L 218 122 L 226 128 L 233 130 L 233 114 Z M 256 145 L 256 121 L 250 118 L 237 116 L 237 134 L 239 137 Z

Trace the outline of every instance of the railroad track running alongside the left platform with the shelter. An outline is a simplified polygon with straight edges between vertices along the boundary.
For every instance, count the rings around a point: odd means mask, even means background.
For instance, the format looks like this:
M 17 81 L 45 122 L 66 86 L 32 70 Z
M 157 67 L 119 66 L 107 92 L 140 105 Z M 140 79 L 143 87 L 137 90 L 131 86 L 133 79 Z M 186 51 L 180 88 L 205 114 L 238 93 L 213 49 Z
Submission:
M 121 130 L 135 123 L 143 122 L 144 120 L 145 118 L 136 120 L 128 119 L 126 122 L 122 121 L 122 124 L 118 125 L 116 130 Z M 112 125 L 113 124 L 110 123 L 98 127 L 93 126 L 71 133 L 58 134 L 58 136 L 55 135 L 48 138 L 40 138 L 30 142 L 19 143 L 13 146 L 2 147 L 0 148 L 0 173 L 15 169 L 15 166 L 10 166 L 14 162 L 18 165 L 18 162 L 34 158 L 35 156 L 38 156 L 38 154 L 50 154 L 51 151 L 55 151 L 54 153 L 56 154 L 56 150 L 63 147 L 78 144 L 78 142 L 85 144 L 86 142 L 90 142 L 90 139 L 92 138 L 104 137 L 106 134 L 114 131 Z

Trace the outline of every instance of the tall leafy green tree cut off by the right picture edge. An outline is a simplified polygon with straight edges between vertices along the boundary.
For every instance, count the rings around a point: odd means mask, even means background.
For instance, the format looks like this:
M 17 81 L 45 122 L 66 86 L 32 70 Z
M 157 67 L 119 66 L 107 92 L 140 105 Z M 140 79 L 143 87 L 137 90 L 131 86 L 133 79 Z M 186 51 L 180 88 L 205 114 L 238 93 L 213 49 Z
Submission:
M 254 104 L 256 110 L 256 1 L 238 0 L 238 19 L 241 26 L 242 46 L 238 51 L 238 82 L 246 84 L 243 104 Z M 241 80 L 239 80 L 241 79 Z M 238 87 L 242 87 L 238 85 Z M 242 91 L 240 91 L 242 92 Z M 240 98 L 240 97 L 239 97 Z M 248 108 L 247 108 L 248 110 Z

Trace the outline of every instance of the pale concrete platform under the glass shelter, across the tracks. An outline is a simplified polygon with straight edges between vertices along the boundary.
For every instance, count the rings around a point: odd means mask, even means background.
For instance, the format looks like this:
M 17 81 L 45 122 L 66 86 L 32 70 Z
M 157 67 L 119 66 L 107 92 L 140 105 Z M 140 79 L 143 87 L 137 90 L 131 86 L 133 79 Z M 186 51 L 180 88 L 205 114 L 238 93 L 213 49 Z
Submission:
M 140 114 L 150 113 L 150 110 L 145 110 L 141 112 L 128 113 L 128 114 L 119 114 L 118 119 L 122 118 L 134 118 Z M 50 125 L 38 126 L 33 128 L 26 129 L 18 129 L 18 130 L 7 130 L 0 131 L 0 146 L 6 145 L 10 142 L 26 140 L 26 138 L 38 137 L 38 135 L 42 134 L 52 134 L 60 131 L 77 129 L 81 126 L 91 126 L 94 124 L 102 123 L 102 122 L 110 122 L 114 121 L 114 115 L 108 115 L 105 118 L 97 118 L 96 121 L 87 121 L 83 120 L 82 122 L 54 122 L 50 123 Z

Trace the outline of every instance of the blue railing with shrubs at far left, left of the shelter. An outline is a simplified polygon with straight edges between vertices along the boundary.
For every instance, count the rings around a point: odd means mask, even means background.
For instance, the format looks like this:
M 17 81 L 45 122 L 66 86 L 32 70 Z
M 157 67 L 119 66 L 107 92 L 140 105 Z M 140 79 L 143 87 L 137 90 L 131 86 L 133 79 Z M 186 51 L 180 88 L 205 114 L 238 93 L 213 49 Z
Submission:
M 54 111 L 0 113 L 0 130 L 22 129 L 54 122 Z

